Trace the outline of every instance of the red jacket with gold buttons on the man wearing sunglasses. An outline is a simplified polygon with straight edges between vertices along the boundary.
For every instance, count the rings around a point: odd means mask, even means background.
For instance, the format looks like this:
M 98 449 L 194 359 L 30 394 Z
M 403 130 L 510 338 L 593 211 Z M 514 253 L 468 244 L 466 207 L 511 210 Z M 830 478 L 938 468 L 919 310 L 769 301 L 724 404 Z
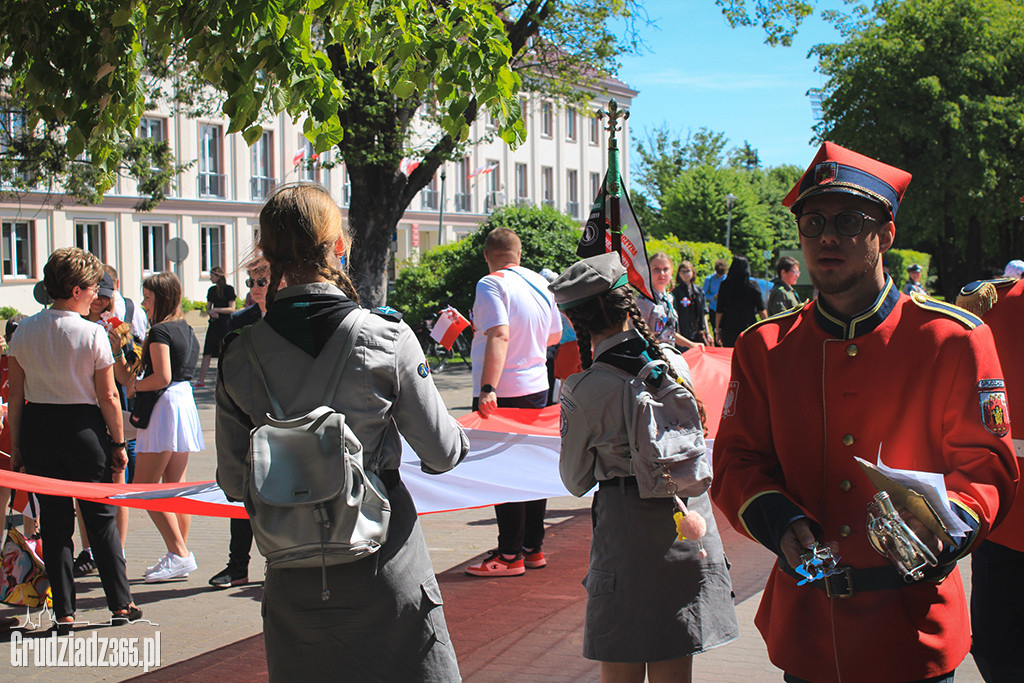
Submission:
M 897 575 L 898 588 L 850 597 L 829 597 L 822 581 L 797 586 L 776 564 L 755 618 L 775 666 L 816 682 L 878 683 L 937 676 L 964 659 L 971 630 L 954 562 L 1006 514 L 1018 477 L 1009 436 L 986 427 L 982 407 L 1001 377 L 977 317 L 901 295 L 888 278 L 852 319 L 819 299 L 740 337 L 712 484 L 734 527 L 778 554 L 782 532 L 806 516 L 819 541 L 838 544 L 841 566 L 891 566 L 868 543 L 876 488 L 854 461 L 873 463 L 881 444 L 890 467 L 941 472 L 975 529 L 933 580 Z

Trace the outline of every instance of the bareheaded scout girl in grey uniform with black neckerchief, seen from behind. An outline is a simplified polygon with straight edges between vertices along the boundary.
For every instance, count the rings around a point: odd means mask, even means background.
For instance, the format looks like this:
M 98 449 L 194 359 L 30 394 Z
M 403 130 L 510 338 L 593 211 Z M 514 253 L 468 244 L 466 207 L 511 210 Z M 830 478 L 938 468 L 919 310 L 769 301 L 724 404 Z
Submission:
M 250 330 L 267 384 L 283 405 L 319 405 L 317 375 L 335 361 L 318 359 L 321 351 L 358 308 L 338 269 L 348 247 L 341 213 L 321 185 L 286 185 L 260 211 L 258 247 L 270 265 L 268 305 Z M 278 291 L 282 278 L 289 286 Z M 331 405 L 345 414 L 365 462 L 379 463 L 391 503 L 387 540 L 365 559 L 327 567 L 326 601 L 321 568 L 268 568 L 263 638 L 270 681 L 461 680 L 416 507 L 398 476 L 399 433 L 430 473 L 455 467 L 469 440 L 449 416 L 413 331 L 392 309 L 374 312 L 357 333 Z M 266 423 L 270 403 L 244 343 L 228 336 L 220 358 L 217 481 L 241 500 L 249 431 Z

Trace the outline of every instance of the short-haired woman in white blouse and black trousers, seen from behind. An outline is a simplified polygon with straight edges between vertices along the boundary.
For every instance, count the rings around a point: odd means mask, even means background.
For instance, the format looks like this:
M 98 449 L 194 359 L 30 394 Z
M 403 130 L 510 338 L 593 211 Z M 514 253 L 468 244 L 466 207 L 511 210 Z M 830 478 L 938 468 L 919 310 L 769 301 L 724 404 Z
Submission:
M 102 264 L 70 247 L 50 255 L 43 285 L 52 307 L 22 323 L 10 344 L 11 468 L 71 481 L 112 480 L 128 462 L 114 355 L 103 328 L 84 317 L 96 298 Z M 75 622 L 75 507 L 72 499 L 39 496 L 43 562 L 53 590 L 54 630 Z M 80 501 L 112 624 L 134 622 L 114 507 Z

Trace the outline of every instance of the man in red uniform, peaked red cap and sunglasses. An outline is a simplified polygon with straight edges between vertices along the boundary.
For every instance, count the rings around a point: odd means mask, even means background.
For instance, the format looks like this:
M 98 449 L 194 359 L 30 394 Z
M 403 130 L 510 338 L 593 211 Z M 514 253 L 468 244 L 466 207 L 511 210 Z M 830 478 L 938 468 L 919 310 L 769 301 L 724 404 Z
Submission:
M 733 354 L 712 496 L 779 557 L 755 624 L 786 681 L 951 680 L 971 646 L 955 562 L 1013 500 L 1017 463 L 986 408 L 1005 398 L 991 333 L 883 271 L 909 180 L 824 143 L 783 202 L 818 298 L 750 328 Z M 907 518 L 939 561 L 922 581 L 905 583 L 868 542 L 877 489 L 854 457 L 873 463 L 880 449 L 889 467 L 942 474 L 970 527 L 944 545 Z M 844 570 L 798 586 L 815 542 Z

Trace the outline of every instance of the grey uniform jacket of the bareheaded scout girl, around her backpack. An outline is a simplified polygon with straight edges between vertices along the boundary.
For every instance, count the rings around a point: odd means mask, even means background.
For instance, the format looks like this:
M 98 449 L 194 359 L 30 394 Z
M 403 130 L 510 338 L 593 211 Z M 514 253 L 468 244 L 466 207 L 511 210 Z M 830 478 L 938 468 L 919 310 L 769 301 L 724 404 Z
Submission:
M 276 300 L 310 294 L 343 296 L 333 284 L 314 283 L 283 289 Z M 310 356 L 265 321 L 252 331 L 267 383 L 285 410 L 301 415 L 318 407 L 336 357 L 324 352 Z M 271 409 L 240 341 L 227 345 L 220 356 L 216 401 L 217 483 L 230 499 L 242 500 L 249 432 L 266 424 Z M 427 473 L 446 472 L 469 452 L 469 439 L 449 415 L 416 336 L 398 321 L 366 316 L 332 407 L 345 414 L 346 424 L 362 443 L 364 462 L 379 463 L 378 471 L 398 469 L 399 434 Z

